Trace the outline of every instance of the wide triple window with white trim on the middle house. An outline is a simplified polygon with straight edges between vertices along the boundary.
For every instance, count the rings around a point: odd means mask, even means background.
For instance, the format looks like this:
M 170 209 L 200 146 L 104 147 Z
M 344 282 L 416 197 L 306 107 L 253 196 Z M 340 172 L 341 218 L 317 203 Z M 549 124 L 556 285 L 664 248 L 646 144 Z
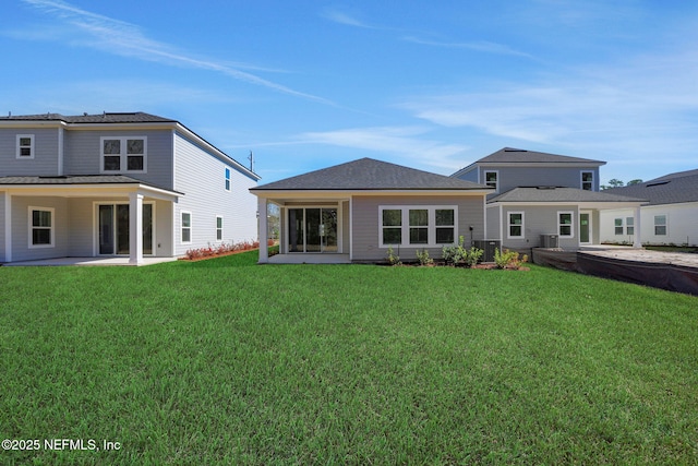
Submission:
M 381 206 L 380 244 L 440 247 L 457 238 L 456 206 Z

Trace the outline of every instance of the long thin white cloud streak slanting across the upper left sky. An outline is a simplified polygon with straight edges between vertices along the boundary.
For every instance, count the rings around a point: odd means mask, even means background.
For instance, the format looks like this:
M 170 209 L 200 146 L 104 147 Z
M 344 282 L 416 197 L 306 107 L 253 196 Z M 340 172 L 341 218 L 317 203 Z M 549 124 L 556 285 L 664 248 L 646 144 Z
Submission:
M 46 13 L 52 14 L 84 34 L 73 38 L 72 43 L 83 47 L 97 48 L 113 55 L 155 61 L 168 65 L 185 67 L 214 71 L 249 84 L 267 87 L 284 94 L 333 105 L 332 100 L 312 94 L 302 93 L 285 85 L 262 79 L 252 73 L 240 71 L 230 63 L 210 59 L 201 59 L 176 50 L 173 47 L 149 39 L 142 29 L 131 23 L 115 20 L 74 7 L 62 0 L 23 0 Z M 14 33 L 15 35 L 19 33 Z M 63 33 L 64 34 L 64 33 Z M 26 37 L 32 37 L 27 35 Z M 36 37 L 36 36 L 34 36 Z M 248 67 L 252 68 L 252 67 Z

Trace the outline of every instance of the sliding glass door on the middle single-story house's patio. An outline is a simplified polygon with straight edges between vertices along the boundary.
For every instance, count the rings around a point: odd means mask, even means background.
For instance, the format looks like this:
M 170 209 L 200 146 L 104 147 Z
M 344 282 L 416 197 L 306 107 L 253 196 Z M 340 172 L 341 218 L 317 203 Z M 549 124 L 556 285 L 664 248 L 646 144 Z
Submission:
M 338 252 L 337 207 L 289 208 L 288 252 Z

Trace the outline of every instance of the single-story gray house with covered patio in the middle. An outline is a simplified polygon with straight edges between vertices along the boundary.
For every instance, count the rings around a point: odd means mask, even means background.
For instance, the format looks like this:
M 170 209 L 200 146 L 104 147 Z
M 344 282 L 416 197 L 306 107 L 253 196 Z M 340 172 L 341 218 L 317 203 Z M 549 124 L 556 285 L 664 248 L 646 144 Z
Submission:
M 269 204 L 280 208 L 279 256 L 336 254 L 378 262 L 393 248 L 404 259 L 417 250 L 488 237 L 485 196 L 471 181 L 361 158 L 250 189 L 258 200 L 260 242 L 267 241 Z M 260 263 L 268 262 L 265 248 Z

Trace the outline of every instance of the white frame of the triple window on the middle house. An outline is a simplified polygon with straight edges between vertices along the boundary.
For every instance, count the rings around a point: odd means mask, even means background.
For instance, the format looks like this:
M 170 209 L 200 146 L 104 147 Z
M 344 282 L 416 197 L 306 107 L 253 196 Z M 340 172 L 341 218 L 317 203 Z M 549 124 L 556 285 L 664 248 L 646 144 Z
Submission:
M 410 211 L 426 211 L 428 225 L 426 243 L 410 243 Z M 436 211 L 454 211 L 454 242 L 437 243 L 436 242 Z M 384 243 L 384 228 L 397 228 L 396 226 L 383 226 L 383 211 L 400 211 L 401 215 L 401 238 L 400 243 Z M 440 225 L 438 228 L 448 228 L 449 225 Z M 420 227 L 418 227 L 420 228 Z M 378 205 L 378 244 L 380 248 L 400 247 L 400 248 L 441 248 L 444 246 L 453 246 L 458 242 L 458 206 L 457 205 Z

